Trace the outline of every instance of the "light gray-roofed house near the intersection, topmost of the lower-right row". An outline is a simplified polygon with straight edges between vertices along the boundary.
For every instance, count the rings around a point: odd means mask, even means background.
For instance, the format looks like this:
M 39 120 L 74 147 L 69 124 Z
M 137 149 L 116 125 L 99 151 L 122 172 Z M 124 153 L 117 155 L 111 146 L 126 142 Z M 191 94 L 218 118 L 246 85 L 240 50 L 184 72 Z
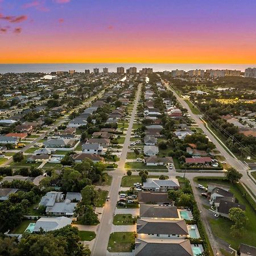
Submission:
M 175 178 L 168 180 L 159 180 L 159 179 L 147 179 L 143 183 L 144 191 L 153 191 L 153 192 L 167 192 L 170 189 L 179 189 L 179 181 Z

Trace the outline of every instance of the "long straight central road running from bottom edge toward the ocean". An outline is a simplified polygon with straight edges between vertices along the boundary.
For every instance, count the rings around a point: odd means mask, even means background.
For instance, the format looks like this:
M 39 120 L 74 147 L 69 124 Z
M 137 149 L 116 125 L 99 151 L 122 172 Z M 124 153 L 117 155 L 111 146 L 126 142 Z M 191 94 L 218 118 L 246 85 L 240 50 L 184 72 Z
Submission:
M 117 170 L 111 172 L 110 174 L 113 176 L 112 184 L 110 186 L 110 191 L 109 191 L 110 200 L 106 202 L 102 216 L 101 216 L 100 227 L 98 228 L 97 236 L 92 249 L 93 256 L 104 256 L 107 254 L 109 236 L 110 236 L 110 233 L 112 232 L 112 222 L 113 222 L 115 207 L 117 205 L 117 200 L 118 200 L 119 187 L 121 185 L 123 175 L 126 174 L 125 160 L 128 152 L 128 147 L 130 146 L 131 130 L 133 129 L 135 112 L 137 109 L 140 95 L 141 95 L 141 84 L 138 86 L 135 104 L 134 104 L 133 112 L 131 113 L 131 119 L 130 119 L 129 127 L 126 132 L 125 142 L 123 143 L 123 149 L 119 159 L 118 168 Z

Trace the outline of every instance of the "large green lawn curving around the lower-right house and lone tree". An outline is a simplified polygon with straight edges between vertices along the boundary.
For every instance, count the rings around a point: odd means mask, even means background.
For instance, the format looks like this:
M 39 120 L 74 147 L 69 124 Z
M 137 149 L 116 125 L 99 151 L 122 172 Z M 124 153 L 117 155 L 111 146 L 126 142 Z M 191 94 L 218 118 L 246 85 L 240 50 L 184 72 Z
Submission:
M 238 249 L 240 243 L 245 243 L 247 245 L 256 245 L 256 218 L 255 218 L 255 211 L 250 206 L 246 197 L 242 195 L 240 190 L 238 189 L 236 184 L 230 184 L 226 181 L 221 179 L 198 179 L 199 183 L 202 185 L 207 185 L 209 182 L 214 182 L 218 184 L 225 184 L 230 186 L 230 191 L 234 193 L 234 196 L 237 198 L 240 204 L 246 205 L 246 216 L 249 218 L 249 225 L 246 227 L 246 232 L 242 237 L 232 237 L 230 236 L 230 227 L 232 226 L 232 221 L 228 220 L 227 218 L 217 218 L 217 219 L 210 219 L 210 226 L 212 227 L 213 233 L 216 236 L 220 237 L 221 239 L 225 240 L 226 242 L 230 243 L 230 245 L 234 249 Z

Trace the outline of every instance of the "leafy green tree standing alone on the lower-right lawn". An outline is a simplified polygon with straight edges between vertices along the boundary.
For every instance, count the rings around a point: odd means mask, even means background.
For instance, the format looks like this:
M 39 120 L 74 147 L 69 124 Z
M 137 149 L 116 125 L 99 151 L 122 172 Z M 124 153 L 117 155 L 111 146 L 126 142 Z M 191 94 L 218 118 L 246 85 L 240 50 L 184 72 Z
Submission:
M 245 232 L 245 226 L 248 223 L 245 211 L 240 208 L 229 209 L 229 218 L 234 222 L 231 226 L 231 234 L 233 237 L 240 237 Z

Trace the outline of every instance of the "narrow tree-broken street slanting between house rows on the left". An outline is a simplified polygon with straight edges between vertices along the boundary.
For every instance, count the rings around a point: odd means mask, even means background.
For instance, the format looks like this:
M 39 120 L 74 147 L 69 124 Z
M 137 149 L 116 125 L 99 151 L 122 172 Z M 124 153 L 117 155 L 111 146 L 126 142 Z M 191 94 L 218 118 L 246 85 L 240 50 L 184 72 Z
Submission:
M 111 86 L 108 86 L 111 87 Z M 105 88 L 106 89 L 106 88 Z M 95 96 L 91 97 L 89 100 L 85 101 L 81 106 L 77 106 L 75 109 L 80 109 L 80 108 L 84 108 L 86 105 L 92 103 L 92 101 L 95 100 L 95 98 L 97 97 L 101 97 L 104 92 L 105 89 L 103 89 L 100 93 L 96 94 Z M 64 117 L 63 119 L 61 119 L 59 122 L 57 122 L 55 125 L 53 125 L 51 128 L 49 128 L 49 130 L 44 131 L 44 133 L 42 135 L 40 135 L 40 137 L 36 138 L 34 141 L 32 141 L 30 144 L 27 144 L 26 147 L 23 147 L 21 150 L 19 150 L 18 152 L 25 152 L 28 150 L 28 148 L 31 148 L 32 146 L 34 146 L 36 143 L 38 143 L 40 141 L 40 139 L 43 139 L 44 137 L 46 137 L 46 135 L 48 133 L 51 133 L 51 131 L 53 131 L 55 128 L 57 128 L 58 126 L 60 126 L 62 123 L 66 122 L 69 119 L 69 117 Z M 5 163 L 3 163 L 0 166 L 8 166 L 11 162 L 13 162 L 13 156 L 11 156 Z

